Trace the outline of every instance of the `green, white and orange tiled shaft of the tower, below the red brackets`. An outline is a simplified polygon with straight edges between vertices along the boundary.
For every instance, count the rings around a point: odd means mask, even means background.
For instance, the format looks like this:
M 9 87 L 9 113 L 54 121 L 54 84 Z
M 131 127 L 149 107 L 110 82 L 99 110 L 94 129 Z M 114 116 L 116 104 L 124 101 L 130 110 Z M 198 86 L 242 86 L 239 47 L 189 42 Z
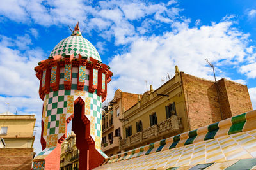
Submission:
M 89 70 L 84 71 L 84 90 L 77 90 L 78 68 L 72 68 L 71 90 L 64 89 L 64 68 L 60 69 L 59 90 L 45 95 L 43 118 L 43 136 L 47 141 L 47 147 L 56 146 L 56 141 L 65 134 L 66 120 L 74 113 L 74 101 L 81 97 L 85 103 L 85 115 L 90 120 L 90 135 L 95 141 L 95 148 L 100 150 L 101 146 L 101 121 L 102 101 L 97 92 L 88 92 Z

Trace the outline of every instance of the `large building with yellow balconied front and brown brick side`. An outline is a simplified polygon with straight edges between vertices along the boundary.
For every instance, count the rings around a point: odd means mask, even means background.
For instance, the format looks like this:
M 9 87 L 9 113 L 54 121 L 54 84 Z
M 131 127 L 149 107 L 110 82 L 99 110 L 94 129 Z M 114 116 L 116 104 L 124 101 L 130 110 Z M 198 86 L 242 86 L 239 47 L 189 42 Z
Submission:
M 175 76 L 147 91 L 124 112 L 120 150 L 148 145 L 252 110 L 246 85 L 205 80 L 176 67 Z

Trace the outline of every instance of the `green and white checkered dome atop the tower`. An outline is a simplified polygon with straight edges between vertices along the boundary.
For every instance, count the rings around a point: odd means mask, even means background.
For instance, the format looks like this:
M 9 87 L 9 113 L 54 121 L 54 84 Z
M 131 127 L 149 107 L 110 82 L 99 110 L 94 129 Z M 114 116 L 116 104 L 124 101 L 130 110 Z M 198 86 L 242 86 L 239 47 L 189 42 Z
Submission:
M 83 56 L 93 57 L 93 59 L 101 61 L 96 48 L 87 39 L 83 38 L 79 31 L 73 31 L 71 36 L 60 41 L 52 50 L 50 57 L 60 54 L 64 56 L 67 53 L 74 54 L 76 58 L 78 58 L 80 53 Z

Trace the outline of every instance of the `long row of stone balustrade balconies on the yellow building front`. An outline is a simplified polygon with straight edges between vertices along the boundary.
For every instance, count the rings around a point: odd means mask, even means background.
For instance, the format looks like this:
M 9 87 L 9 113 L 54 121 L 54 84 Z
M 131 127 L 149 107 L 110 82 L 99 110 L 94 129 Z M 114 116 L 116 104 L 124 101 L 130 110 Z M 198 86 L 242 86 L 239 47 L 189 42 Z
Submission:
M 139 143 L 143 143 L 152 137 L 156 138 L 157 136 L 163 136 L 166 133 L 170 132 L 181 132 L 183 130 L 181 124 L 181 117 L 172 115 L 172 117 L 164 120 L 163 122 L 152 125 L 148 129 L 145 129 L 142 132 L 138 132 L 128 138 L 122 139 L 119 142 L 119 149 L 124 150 Z

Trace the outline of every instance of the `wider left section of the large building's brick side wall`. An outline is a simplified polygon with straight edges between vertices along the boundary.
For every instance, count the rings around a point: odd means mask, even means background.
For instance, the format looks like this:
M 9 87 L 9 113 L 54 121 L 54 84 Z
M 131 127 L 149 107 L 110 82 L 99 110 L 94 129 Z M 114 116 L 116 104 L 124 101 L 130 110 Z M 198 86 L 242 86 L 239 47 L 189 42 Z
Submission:
M 190 129 L 197 129 L 221 120 L 214 81 L 181 73 Z

